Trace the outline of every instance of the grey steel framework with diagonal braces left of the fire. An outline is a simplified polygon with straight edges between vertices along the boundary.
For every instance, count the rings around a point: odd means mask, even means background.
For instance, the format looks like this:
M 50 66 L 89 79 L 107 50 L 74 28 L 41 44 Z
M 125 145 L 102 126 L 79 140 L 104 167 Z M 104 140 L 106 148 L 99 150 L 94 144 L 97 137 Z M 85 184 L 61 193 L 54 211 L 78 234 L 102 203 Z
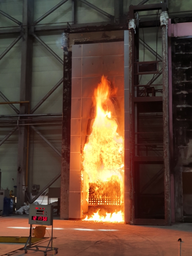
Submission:
M 30 102 L 31 99 L 31 77 L 32 77 L 32 52 L 33 52 L 33 38 L 35 38 L 41 45 L 46 48 L 62 65 L 64 61 L 51 49 L 49 48 L 37 35 L 37 33 L 45 32 L 49 34 L 52 31 L 57 33 L 63 32 L 64 30 L 70 30 L 70 32 L 82 32 L 87 31 L 87 26 L 89 25 L 89 31 L 107 31 L 107 30 L 121 30 L 122 24 L 120 25 L 120 17 L 123 15 L 123 5 L 121 0 L 115 0 L 114 3 L 114 16 L 107 14 L 102 11 L 100 8 L 94 6 L 85 0 L 79 0 L 89 7 L 93 8 L 97 12 L 107 16 L 110 22 L 100 22 L 92 24 L 76 24 L 76 12 L 77 12 L 77 1 L 73 0 L 72 2 L 72 22 L 66 22 L 66 25 L 57 25 L 57 26 L 38 26 L 38 23 L 43 20 L 45 17 L 54 12 L 57 8 L 62 6 L 68 0 L 62 0 L 59 4 L 53 7 L 51 10 L 46 12 L 43 16 L 33 21 L 34 13 L 34 0 L 23 0 L 23 20 L 22 22 L 16 20 L 12 16 L 6 14 L 0 10 L 0 14 L 6 16 L 10 20 L 14 21 L 18 27 L 11 27 L 9 29 L 0 29 L 0 34 L 6 36 L 16 35 L 16 39 L 13 43 L 0 55 L 2 59 L 8 51 L 20 40 L 22 39 L 22 53 L 21 53 L 21 82 L 20 82 L 20 104 L 19 109 L 17 109 L 13 104 L 16 102 L 10 102 L 9 99 L 0 92 L 0 96 L 5 100 L 1 104 L 9 104 L 10 107 L 16 112 L 16 115 L 0 115 L 0 125 L 7 125 L 6 121 L 13 121 L 15 127 L 3 138 L 0 142 L 2 145 L 17 129 L 19 130 L 18 138 L 18 172 L 17 172 L 17 206 L 20 206 L 25 202 L 26 187 L 28 185 L 28 154 L 29 154 L 29 134 L 30 128 L 32 128 L 59 156 L 62 156 L 61 152 L 56 149 L 39 131 L 35 128 L 35 124 L 61 124 L 62 113 L 56 114 L 34 114 L 34 112 L 41 106 L 41 104 L 63 83 L 63 78 L 61 78 L 55 86 L 41 99 L 41 101 L 30 111 L 28 111 L 28 106 L 25 102 Z M 116 22 L 117 19 L 117 22 Z M 69 24 L 72 23 L 72 24 Z M 97 26 L 97 27 L 96 27 Z M 86 28 L 85 28 L 86 27 Z M 76 29 L 75 29 L 76 28 Z M 73 30 L 74 29 L 74 30 Z M 72 31 L 73 30 L 73 31 Z M 69 37 L 68 37 L 69 40 Z M 64 49 L 64 48 L 63 48 Z M 65 49 L 64 49 L 65 51 Z M 68 51 L 68 50 L 67 50 Z M 66 51 L 66 52 L 67 52 Z M 70 53 L 69 53 L 70 54 Z M 65 71 L 64 77 L 69 71 Z M 65 84 L 65 83 L 64 83 Z M 51 118 L 50 118 L 51 117 Z M 36 122 L 36 123 L 34 123 Z M 65 122 L 63 121 L 63 124 Z M 30 128 L 29 128 L 30 127 Z M 64 127 L 64 126 L 63 126 Z M 31 203 L 34 202 L 51 184 L 53 184 L 59 177 L 59 173 L 52 181 L 49 182 L 36 196 L 31 200 Z

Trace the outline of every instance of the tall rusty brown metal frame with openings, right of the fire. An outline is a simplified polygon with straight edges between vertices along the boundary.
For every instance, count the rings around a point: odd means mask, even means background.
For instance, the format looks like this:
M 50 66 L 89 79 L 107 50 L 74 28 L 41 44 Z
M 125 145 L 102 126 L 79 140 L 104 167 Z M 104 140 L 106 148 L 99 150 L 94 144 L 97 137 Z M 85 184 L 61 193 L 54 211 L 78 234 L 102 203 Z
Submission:
M 162 10 L 162 12 L 167 11 L 166 4 L 156 4 L 156 5 L 146 5 L 146 6 L 130 6 L 129 8 L 129 17 L 130 20 L 134 20 L 134 13 L 137 11 L 150 11 L 150 10 Z M 162 60 L 162 71 L 159 72 L 156 76 L 153 76 L 153 79 L 147 84 L 142 85 L 147 88 L 151 85 L 154 80 L 160 74 L 163 74 L 163 86 L 162 86 L 162 97 L 154 96 L 151 97 L 139 97 L 139 95 L 135 95 L 135 87 L 137 88 L 137 94 L 139 89 L 139 80 L 138 76 L 136 76 L 135 71 L 135 62 L 138 61 L 138 53 L 139 42 L 145 45 L 138 38 L 138 29 L 130 28 L 129 30 L 129 148 L 130 148 L 130 166 L 129 166 L 129 179 L 130 181 L 126 183 L 126 186 L 129 187 L 130 190 L 130 223 L 132 224 L 151 224 L 151 225 L 170 225 L 171 224 L 171 199 L 170 199 L 170 155 L 169 155 L 169 84 L 168 84 L 168 35 L 167 35 L 167 25 L 162 25 L 162 58 L 158 56 L 159 59 Z M 149 48 L 148 48 L 149 49 Z M 151 49 L 149 49 L 151 51 Z M 153 51 L 151 53 L 154 54 Z M 155 53 L 156 54 L 156 53 Z M 156 55 L 157 56 L 157 55 Z M 141 85 L 140 85 L 141 87 Z M 135 150 L 137 150 L 137 139 L 135 139 L 135 129 L 137 129 L 137 110 L 135 109 L 136 102 L 162 102 L 163 104 L 163 152 L 162 156 L 135 156 Z M 125 105 L 126 107 L 126 105 Z M 140 142 L 139 142 L 140 143 Z M 126 141 L 125 141 L 126 144 Z M 147 144 L 146 144 L 147 145 Z M 137 176 L 136 170 L 138 169 L 138 164 L 164 164 L 164 198 L 165 198 L 165 219 L 141 219 L 135 217 L 135 212 L 137 208 L 136 204 L 136 179 Z M 126 163 L 125 163 L 126 165 Z M 126 168 L 126 167 L 125 167 Z M 161 171 L 161 170 L 160 170 Z M 156 174 L 159 176 L 162 172 Z M 154 177 L 156 179 L 156 176 Z M 153 181 L 150 180 L 150 182 Z M 125 210 L 126 211 L 126 210 Z M 128 214 L 128 213 L 127 213 Z

